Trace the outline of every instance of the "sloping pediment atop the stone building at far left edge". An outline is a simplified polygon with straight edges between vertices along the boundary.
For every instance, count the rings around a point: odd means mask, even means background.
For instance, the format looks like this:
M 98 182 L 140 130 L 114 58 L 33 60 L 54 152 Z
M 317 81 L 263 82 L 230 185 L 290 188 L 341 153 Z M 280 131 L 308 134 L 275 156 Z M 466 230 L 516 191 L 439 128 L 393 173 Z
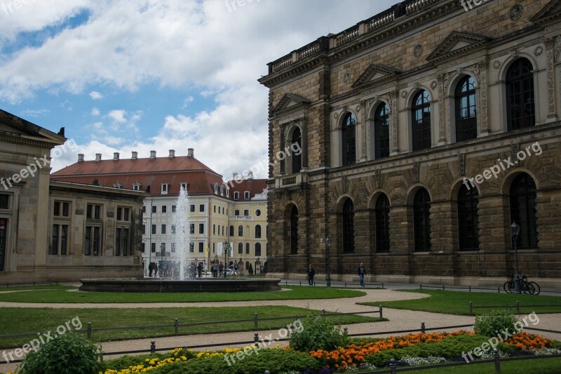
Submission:
M 61 133 L 56 134 L 2 109 L 0 109 L 0 135 L 41 140 L 55 145 L 62 145 L 66 141 L 62 129 Z

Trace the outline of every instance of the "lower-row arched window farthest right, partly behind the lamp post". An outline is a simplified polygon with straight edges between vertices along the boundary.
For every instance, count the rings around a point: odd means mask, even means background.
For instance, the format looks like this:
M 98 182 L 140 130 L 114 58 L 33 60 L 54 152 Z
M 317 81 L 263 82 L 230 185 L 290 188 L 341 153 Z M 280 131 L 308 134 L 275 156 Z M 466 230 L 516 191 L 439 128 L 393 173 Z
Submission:
M 518 248 L 537 248 L 536 183 L 526 173 L 518 175 L 511 185 L 511 222 L 520 225 Z

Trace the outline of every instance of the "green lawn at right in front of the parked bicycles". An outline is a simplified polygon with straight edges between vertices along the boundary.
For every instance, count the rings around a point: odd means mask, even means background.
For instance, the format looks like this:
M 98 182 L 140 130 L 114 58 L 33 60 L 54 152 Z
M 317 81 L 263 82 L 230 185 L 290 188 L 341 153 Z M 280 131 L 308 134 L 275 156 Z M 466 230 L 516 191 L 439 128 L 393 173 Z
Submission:
M 510 311 L 516 313 L 516 301 L 520 302 L 520 314 L 561 313 L 561 298 L 558 296 L 513 295 L 507 293 L 457 292 L 442 290 L 403 290 L 403 292 L 426 293 L 430 298 L 403 301 L 360 302 L 360 305 L 420 310 L 423 312 L 469 315 L 468 304 L 474 307 L 511 305 Z M 532 307 L 532 305 L 557 305 L 557 307 Z M 506 309 L 506 308 L 494 308 Z M 473 308 L 473 314 L 489 312 L 487 308 Z

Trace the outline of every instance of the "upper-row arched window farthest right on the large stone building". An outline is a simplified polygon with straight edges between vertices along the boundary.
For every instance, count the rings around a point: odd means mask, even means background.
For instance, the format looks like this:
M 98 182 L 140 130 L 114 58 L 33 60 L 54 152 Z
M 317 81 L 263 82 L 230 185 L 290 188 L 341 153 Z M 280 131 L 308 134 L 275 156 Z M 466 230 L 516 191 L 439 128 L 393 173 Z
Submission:
M 508 131 L 531 127 L 536 123 L 533 69 L 532 62 L 527 58 L 519 58 L 506 72 Z

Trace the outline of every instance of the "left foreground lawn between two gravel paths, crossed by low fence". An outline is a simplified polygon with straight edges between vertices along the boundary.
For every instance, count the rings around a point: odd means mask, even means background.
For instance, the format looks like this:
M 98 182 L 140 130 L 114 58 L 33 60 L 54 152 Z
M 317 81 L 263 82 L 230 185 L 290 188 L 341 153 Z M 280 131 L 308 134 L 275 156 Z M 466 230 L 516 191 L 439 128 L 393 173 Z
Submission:
M 94 331 L 92 338 L 100 341 L 124 340 L 133 338 L 152 338 L 174 335 L 173 323 L 175 318 L 179 323 L 201 323 L 212 322 L 202 326 L 180 326 L 180 335 L 196 333 L 229 333 L 234 331 L 254 332 L 254 313 L 259 319 L 290 316 L 287 319 L 273 321 L 259 321 L 258 330 L 270 330 L 287 326 L 295 320 L 295 316 L 304 317 L 312 312 L 311 309 L 266 306 L 266 307 L 183 307 L 183 308 L 148 308 L 148 309 L 52 309 L 52 308 L 0 308 L 0 335 L 11 335 L 18 333 L 36 333 L 47 330 L 55 330 L 67 321 L 75 317 L 85 329 L 88 322 L 92 328 L 128 327 L 128 326 L 154 326 L 170 325 L 166 328 L 149 328 L 142 330 L 110 330 Z M 328 317 L 338 324 L 362 323 L 379 321 L 374 317 L 344 315 Z M 248 322 L 219 323 L 220 321 L 233 321 L 249 319 Z M 79 325 L 76 319 L 76 325 Z M 386 319 L 384 319 L 386 321 Z M 69 324 L 72 330 L 76 327 Z M 252 340 L 253 334 L 246 333 L 247 340 Z M 25 342 L 36 338 L 27 336 L 21 338 L 3 338 L 0 347 L 21 347 Z

